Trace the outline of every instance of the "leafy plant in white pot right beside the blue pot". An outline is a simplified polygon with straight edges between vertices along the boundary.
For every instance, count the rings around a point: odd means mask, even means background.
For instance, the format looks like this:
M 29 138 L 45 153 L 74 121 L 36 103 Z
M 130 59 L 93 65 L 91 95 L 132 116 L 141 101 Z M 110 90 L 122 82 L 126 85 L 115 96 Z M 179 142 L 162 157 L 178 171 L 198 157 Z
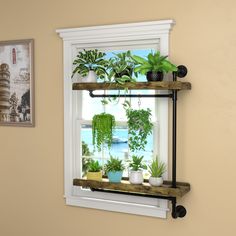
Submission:
M 143 163 L 143 156 L 133 155 L 129 167 L 129 182 L 131 184 L 142 184 L 143 169 L 147 169 L 147 166 Z

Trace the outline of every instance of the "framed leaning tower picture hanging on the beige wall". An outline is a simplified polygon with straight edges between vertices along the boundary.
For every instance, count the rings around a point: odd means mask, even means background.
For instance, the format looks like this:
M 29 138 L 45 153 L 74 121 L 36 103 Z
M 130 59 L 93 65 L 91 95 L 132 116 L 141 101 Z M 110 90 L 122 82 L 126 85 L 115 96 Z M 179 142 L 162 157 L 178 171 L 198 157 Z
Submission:
M 0 125 L 34 126 L 33 44 L 0 41 Z

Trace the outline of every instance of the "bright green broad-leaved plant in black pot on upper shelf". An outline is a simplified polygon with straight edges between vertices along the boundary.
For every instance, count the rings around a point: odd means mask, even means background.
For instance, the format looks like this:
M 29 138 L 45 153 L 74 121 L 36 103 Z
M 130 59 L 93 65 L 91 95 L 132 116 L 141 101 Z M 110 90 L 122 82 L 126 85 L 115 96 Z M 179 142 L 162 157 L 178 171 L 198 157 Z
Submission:
M 137 65 L 134 71 L 146 75 L 148 81 L 162 81 L 164 73 L 177 71 L 176 65 L 168 61 L 167 56 L 161 56 L 159 51 L 149 53 L 146 59 L 136 55 L 132 58 Z

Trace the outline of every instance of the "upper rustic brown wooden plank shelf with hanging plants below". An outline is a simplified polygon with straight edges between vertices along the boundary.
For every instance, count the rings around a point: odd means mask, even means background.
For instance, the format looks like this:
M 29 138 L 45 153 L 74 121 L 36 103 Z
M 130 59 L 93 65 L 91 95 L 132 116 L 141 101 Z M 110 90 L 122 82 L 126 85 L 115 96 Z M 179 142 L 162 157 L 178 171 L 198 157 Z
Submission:
M 132 90 L 189 90 L 191 83 L 181 81 L 160 81 L 160 82 L 137 82 L 126 83 L 128 89 Z M 118 90 L 123 89 L 116 83 L 73 83 L 73 90 Z

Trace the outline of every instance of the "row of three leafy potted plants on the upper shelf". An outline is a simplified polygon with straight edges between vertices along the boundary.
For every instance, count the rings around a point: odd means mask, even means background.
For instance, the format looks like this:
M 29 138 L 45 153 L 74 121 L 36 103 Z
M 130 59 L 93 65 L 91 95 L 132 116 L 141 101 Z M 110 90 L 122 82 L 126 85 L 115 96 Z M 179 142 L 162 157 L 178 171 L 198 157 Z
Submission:
M 106 53 L 94 50 L 83 50 L 78 53 L 73 62 L 72 77 L 79 74 L 81 82 L 96 82 L 97 78 L 103 82 L 115 82 L 124 85 L 125 82 L 136 82 L 138 74 L 146 75 L 148 81 L 162 81 L 163 75 L 177 71 L 167 56 L 160 52 L 151 52 L 143 58 L 132 55 L 128 50 L 114 54 L 109 60 Z

